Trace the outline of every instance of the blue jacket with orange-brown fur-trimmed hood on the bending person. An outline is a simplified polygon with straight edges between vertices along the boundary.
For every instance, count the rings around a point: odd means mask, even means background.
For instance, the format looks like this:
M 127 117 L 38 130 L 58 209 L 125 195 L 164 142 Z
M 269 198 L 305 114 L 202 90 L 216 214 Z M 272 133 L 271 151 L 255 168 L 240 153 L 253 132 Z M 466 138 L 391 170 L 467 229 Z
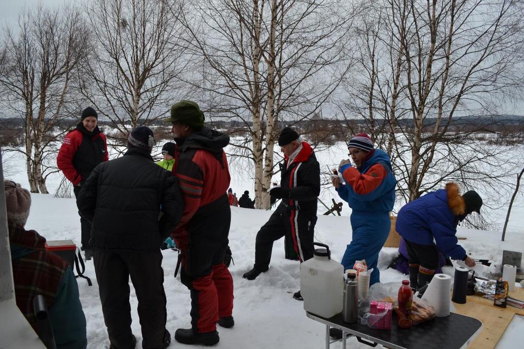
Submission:
M 455 260 L 462 260 L 466 251 L 456 234 L 456 227 L 464 216 L 465 203 L 459 195 L 459 186 L 447 183 L 446 189 L 439 189 L 408 202 L 398 212 L 395 228 L 407 241 L 419 245 L 432 245 Z

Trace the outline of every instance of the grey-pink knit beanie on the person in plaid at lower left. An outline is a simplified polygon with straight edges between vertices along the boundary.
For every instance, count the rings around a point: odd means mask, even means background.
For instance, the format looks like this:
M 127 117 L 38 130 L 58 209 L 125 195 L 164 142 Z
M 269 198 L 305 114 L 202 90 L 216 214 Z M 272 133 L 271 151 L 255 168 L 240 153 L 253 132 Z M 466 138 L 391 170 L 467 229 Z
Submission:
M 4 180 L 7 220 L 24 227 L 29 217 L 31 194 L 18 183 Z

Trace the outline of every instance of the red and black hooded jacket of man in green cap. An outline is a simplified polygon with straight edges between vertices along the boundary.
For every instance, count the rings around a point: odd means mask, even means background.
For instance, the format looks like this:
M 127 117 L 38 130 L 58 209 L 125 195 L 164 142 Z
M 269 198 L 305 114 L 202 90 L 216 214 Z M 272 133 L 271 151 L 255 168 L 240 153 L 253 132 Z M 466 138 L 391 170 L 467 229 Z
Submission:
M 199 212 L 213 210 L 220 205 L 228 206 L 226 197 L 230 184 L 224 147 L 229 136 L 207 127 L 184 139 L 175 139 L 177 148 L 173 174 L 177 177 L 185 202 L 182 219 L 172 236 L 184 249 L 187 243 L 188 223 L 199 217 Z

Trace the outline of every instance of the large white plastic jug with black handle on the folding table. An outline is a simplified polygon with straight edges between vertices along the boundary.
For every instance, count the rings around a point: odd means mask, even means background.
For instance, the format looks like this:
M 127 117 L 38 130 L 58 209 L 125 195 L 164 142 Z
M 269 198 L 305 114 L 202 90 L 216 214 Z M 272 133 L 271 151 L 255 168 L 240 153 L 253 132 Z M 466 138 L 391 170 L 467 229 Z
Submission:
M 331 318 L 342 312 L 344 292 L 344 267 L 331 259 L 328 245 L 315 249 L 313 258 L 300 265 L 300 294 L 304 298 L 304 310 L 323 318 Z

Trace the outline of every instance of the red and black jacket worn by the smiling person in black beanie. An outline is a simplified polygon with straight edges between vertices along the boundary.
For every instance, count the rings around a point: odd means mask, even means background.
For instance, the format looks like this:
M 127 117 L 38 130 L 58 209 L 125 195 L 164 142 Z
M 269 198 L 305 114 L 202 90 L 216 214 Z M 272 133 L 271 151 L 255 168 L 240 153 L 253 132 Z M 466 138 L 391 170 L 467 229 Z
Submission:
M 57 166 L 73 185 L 88 179 L 96 165 L 109 160 L 107 140 L 96 126 L 93 132 L 82 122 L 65 136 L 57 156 Z

